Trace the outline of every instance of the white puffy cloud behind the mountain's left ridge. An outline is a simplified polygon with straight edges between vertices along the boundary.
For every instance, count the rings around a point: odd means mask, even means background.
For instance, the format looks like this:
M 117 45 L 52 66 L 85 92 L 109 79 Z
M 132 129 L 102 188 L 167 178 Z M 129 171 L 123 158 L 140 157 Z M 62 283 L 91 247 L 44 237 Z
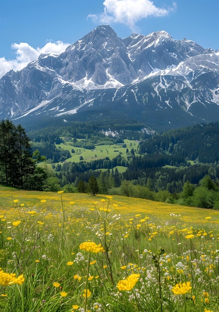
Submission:
M 34 49 L 26 42 L 20 42 L 11 44 L 11 48 L 16 50 L 15 58 L 7 60 L 4 57 L 0 57 L 0 78 L 6 74 L 9 70 L 14 71 L 21 70 L 28 63 L 35 61 L 41 53 L 56 52 L 61 53 L 69 46 L 69 43 L 63 43 L 62 41 L 47 42 L 42 48 Z

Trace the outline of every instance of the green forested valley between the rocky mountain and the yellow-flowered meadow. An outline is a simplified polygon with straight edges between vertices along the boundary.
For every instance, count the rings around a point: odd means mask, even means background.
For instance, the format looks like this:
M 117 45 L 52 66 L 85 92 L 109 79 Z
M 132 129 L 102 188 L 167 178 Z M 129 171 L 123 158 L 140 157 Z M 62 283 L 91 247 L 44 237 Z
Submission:
M 17 129 L 18 126 L 13 127 Z M 142 130 L 141 124 L 117 127 L 117 124 L 109 129 L 102 123 L 76 122 L 68 126 L 29 129 L 25 149 L 29 149 L 32 157 L 32 173 L 16 185 L 17 178 L 5 176 L 5 172 L 10 172 L 10 164 L 5 164 L 3 159 L 10 156 L 2 156 L 1 184 L 26 189 L 89 192 L 89 180 L 95 178 L 95 193 L 218 209 L 218 122 L 164 133 L 149 133 Z M 134 140 L 134 146 L 127 147 L 126 139 Z M 1 138 L 1 151 L 3 145 L 4 138 Z M 72 149 L 69 151 L 63 148 L 65 146 Z M 80 156 L 78 161 L 69 160 L 78 149 L 95 151 L 98 146 L 122 146 L 122 152 L 114 151 L 119 152 L 115 157 L 103 153 L 102 157 L 83 159 Z M 17 156 L 17 159 L 21 158 Z M 33 177 L 34 182 L 31 182 Z

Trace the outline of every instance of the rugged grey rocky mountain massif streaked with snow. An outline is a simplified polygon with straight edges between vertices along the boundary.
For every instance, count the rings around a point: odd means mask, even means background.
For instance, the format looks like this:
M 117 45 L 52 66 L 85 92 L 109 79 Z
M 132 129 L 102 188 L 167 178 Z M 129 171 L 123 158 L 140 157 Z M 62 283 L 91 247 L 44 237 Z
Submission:
M 219 119 L 219 52 L 165 31 L 119 38 L 101 25 L 61 54 L 0 79 L 0 118 L 132 120 L 173 129 Z

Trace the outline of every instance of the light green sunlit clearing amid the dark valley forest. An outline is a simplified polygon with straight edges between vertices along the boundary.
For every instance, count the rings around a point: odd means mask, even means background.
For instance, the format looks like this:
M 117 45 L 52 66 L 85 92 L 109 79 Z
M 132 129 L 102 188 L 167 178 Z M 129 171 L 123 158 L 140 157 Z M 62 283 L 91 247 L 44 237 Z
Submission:
M 128 149 L 129 152 L 131 151 L 132 148 L 137 149 L 138 143 L 131 140 L 124 140 L 124 143 L 127 146 L 126 148 L 123 148 L 122 145 L 113 144 L 113 145 L 97 145 L 95 147 L 95 150 L 89 150 L 84 148 L 73 147 L 72 145 L 68 145 L 68 142 L 65 142 L 65 144 L 61 143 L 59 145 L 56 145 L 56 147 L 57 148 L 60 147 L 63 150 L 68 150 L 70 153 L 72 149 L 74 149 L 75 153 L 71 153 L 72 156 L 68 158 L 66 161 L 79 162 L 80 156 L 82 156 L 84 160 L 91 161 L 106 157 L 112 159 L 118 156 L 119 153 L 122 153 L 121 156 L 127 159 L 126 149 Z

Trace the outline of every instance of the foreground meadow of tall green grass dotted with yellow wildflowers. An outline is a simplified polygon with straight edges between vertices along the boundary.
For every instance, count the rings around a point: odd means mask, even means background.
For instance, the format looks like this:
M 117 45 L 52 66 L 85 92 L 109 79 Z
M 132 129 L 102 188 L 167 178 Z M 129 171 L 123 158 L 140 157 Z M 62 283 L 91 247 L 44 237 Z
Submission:
M 219 311 L 217 210 L 1 187 L 0 227 L 0 311 Z

